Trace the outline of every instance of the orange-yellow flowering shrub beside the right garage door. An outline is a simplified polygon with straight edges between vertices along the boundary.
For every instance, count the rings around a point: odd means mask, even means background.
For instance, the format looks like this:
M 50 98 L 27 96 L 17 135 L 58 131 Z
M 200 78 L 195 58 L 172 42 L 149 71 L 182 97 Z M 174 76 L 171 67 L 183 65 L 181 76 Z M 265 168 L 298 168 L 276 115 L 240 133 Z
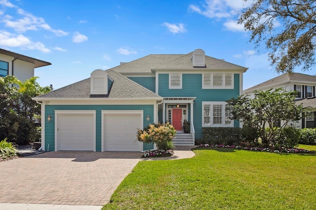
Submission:
M 149 128 L 137 130 L 137 140 L 150 143 L 154 142 L 157 145 L 157 150 L 172 149 L 172 139 L 176 135 L 176 130 L 169 123 L 166 124 L 150 124 Z M 172 147 L 172 148 L 170 148 Z

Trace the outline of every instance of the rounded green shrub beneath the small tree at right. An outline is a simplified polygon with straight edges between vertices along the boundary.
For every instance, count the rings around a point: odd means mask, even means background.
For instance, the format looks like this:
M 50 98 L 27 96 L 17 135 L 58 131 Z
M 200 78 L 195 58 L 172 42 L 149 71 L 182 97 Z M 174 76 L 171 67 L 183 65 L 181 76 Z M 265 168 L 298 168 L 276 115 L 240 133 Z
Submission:
M 300 131 L 292 128 L 278 128 L 281 129 L 276 138 L 271 141 L 271 143 L 276 147 L 293 148 L 298 145 L 300 139 Z

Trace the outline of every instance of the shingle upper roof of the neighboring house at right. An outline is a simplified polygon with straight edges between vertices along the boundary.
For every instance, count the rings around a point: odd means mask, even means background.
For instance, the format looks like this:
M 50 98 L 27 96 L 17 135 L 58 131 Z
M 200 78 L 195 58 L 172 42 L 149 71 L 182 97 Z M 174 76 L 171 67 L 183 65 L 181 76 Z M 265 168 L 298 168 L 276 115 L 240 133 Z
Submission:
M 269 79 L 265 82 L 262 82 L 258 85 L 255 85 L 251 88 L 244 90 L 243 92 L 252 92 L 258 88 L 265 88 L 266 86 L 270 86 L 279 82 L 292 82 L 292 81 L 302 81 L 302 82 L 311 82 L 316 83 L 316 76 L 304 74 L 304 73 L 284 73 L 275 78 Z

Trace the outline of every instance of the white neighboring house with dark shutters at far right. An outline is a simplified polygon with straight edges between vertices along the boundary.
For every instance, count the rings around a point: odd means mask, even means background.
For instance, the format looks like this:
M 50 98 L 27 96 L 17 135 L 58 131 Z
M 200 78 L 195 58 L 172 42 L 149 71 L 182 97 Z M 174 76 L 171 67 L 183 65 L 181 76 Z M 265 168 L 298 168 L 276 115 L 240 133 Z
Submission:
M 296 104 L 303 104 L 309 107 L 310 112 L 300 121 L 290 122 L 288 126 L 295 128 L 316 127 L 316 97 L 315 97 L 316 76 L 303 73 L 284 73 L 261 84 L 255 85 L 243 91 L 243 94 L 254 98 L 254 91 L 267 91 L 271 88 L 283 88 L 286 91 L 297 91 Z M 280 124 L 281 122 L 277 122 Z

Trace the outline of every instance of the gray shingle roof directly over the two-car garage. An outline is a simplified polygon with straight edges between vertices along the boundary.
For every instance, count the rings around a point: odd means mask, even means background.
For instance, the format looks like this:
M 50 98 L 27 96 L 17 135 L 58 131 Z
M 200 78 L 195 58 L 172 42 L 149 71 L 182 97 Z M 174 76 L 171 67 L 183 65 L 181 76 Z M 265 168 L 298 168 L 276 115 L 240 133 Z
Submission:
M 106 72 L 114 80 L 108 98 L 160 98 L 154 92 L 114 70 Z M 90 98 L 90 78 L 36 97 L 36 99 L 42 98 Z

